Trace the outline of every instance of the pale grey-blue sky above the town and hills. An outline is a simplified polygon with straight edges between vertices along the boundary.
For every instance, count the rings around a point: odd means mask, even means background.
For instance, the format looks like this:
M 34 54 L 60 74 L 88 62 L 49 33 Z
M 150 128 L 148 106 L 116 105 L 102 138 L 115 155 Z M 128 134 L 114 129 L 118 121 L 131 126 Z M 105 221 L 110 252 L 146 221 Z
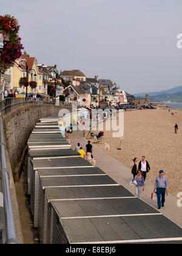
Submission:
M 128 93 L 182 85 L 181 0 L 8 0 L 30 57 L 111 79 Z

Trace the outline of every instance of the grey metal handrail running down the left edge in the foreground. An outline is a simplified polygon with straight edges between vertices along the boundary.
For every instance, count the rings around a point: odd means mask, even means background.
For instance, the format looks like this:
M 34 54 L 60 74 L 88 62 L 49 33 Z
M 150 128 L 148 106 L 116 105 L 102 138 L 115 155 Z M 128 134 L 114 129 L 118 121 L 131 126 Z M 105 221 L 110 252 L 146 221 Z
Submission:
M 5 158 L 5 141 L 2 118 L 0 116 L 0 143 L 1 143 L 1 180 L 2 193 L 4 196 L 4 216 L 5 216 L 5 237 L 3 243 L 20 244 L 16 239 L 15 221 L 13 217 L 12 201 L 10 196 L 9 170 L 7 169 Z

